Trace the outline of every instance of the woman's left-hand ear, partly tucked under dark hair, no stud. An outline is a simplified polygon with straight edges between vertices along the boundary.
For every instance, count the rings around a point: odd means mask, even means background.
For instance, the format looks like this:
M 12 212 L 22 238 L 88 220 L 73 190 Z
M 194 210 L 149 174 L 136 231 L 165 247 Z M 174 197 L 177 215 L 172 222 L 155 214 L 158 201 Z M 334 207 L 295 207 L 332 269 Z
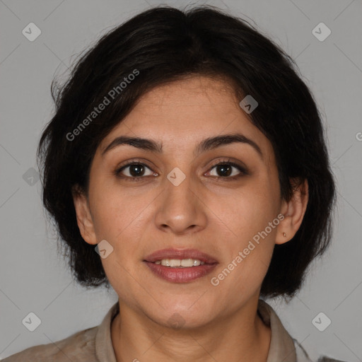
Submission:
M 78 185 L 72 188 L 72 196 L 74 207 L 76 209 L 76 222 L 81 232 L 82 238 L 88 244 L 97 244 L 97 238 L 95 237 L 94 224 L 89 209 L 88 197 L 86 193 L 78 187 Z

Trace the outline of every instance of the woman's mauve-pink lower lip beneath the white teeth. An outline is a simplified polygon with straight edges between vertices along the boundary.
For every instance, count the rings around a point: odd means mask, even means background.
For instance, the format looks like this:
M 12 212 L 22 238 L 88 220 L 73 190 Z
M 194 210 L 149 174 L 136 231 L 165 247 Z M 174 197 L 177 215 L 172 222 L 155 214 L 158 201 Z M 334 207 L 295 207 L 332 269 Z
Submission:
M 151 262 L 146 262 L 146 264 L 154 274 L 160 276 L 162 279 L 173 281 L 173 283 L 187 283 L 187 281 L 193 281 L 211 273 L 211 271 L 216 267 L 217 263 L 203 264 L 199 265 L 198 267 L 188 268 L 164 267 L 161 264 L 155 264 Z

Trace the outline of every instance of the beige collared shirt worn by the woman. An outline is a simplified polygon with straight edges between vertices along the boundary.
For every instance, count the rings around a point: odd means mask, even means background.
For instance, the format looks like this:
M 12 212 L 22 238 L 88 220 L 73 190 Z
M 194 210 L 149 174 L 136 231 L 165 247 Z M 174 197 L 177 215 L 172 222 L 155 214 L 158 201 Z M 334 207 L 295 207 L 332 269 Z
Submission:
M 267 362 L 313 362 L 298 341 L 293 339 L 271 306 L 259 299 L 257 311 L 264 324 L 271 327 Z M 54 344 L 40 344 L 13 354 L 2 362 L 117 362 L 111 339 L 111 323 L 119 313 L 112 305 L 100 325 L 83 329 Z M 135 358 L 134 361 L 137 361 Z M 141 360 L 140 360 L 141 361 Z M 317 362 L 343 362 L 321 357 Z M 130 361 L 131 362 L 131 361 Z

